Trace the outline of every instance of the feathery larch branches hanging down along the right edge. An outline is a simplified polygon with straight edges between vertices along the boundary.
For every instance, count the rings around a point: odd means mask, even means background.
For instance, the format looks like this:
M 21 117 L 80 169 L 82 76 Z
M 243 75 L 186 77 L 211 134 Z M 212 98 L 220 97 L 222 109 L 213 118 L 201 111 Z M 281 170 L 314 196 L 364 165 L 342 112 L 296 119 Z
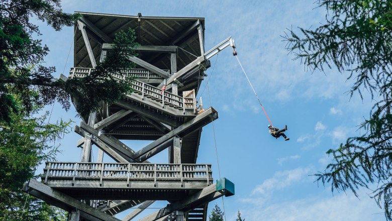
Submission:
M 287 50 L 311 70 L 332 68 L 348 72 L 355 79 L 350 96 L 369 91 L 379 101 L 368 120 L 359 127 L 365 133 L 349 138 L 337 149 L 318 181 L 331 183 L 332 191 L 351 190 L 375 184 L 373 197 L 392 220 L 392 1 L 317 2 L 327 10 L 326 21 L 313 30 L 300 28 L 301 36 L 289 30 Z

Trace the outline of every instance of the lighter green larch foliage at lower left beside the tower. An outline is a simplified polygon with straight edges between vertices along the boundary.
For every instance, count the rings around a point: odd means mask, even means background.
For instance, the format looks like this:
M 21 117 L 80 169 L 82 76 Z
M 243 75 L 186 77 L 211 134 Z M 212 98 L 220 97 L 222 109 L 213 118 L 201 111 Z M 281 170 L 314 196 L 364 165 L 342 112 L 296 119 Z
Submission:
M 69 131 L 70 122 L 47 123 L 49 113 L 29 117 L 23 101 L 17 95 L 12 98 L 20 112 L 10 114 L 11 122 L 0 121 L 0 220 L 61 220 L 62 210 L 27 197 L 21 188 L 39 164 L 54 160 L 58 150 L 53 143 Z M 33 106 L 32 111 L 41 107 Z

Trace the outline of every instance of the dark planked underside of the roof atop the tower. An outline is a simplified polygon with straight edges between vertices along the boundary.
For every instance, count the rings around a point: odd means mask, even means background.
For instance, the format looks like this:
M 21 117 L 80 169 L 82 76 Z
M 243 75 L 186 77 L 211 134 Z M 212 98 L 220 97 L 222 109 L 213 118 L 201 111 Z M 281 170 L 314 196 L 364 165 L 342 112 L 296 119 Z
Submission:
M 136 41 L 141 46 L 178 46 L 195 56 L 201 56 L 201 45 L 198 27 L 202 28 L 204 38 L 204 18 L 180 17 L 144 17 L 111 15 L 100 13 L 75 12 L 82 15 L 81 21 L 86 25 L 92 53 L 96 61 L 100 60 L 104 43 L 113 43 L 115 34 L 120 30 L 135 30 Z M 74 47 L 74 67 L 92 67 L 81 32 L 76 32 Z M 173 47 L 177 50 L 176 47 Z M 151 51 L 153 50 L 153 51 Z M 168 48 L 153 48 L 139 51 L 139 58 L 160 68 L 171 69 Z M 173 49 L 171 49 L 173 50 Z M 175 52 L 174 52 L 175 53 Z M 195 57 L 179 49 L 176 69 L 180 70 Z

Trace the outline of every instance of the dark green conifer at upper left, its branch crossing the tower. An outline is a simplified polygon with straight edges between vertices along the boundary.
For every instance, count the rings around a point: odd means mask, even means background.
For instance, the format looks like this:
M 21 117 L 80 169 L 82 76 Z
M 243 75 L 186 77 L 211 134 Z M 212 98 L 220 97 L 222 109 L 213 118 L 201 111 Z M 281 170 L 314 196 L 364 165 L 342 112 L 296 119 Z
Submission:
M 85 78 L 67 81 L 55 79 L 54 67 L 40 64 L 49 52 L 41 40 L 33 39 L 40 34 L 37 26 L 30 22 L 34 17 L 53 27 L 56 31 L 63 26 L 72 26 L 80 17 L 64 13 L 59 0 L 2 1 L 0 5 L 0 120 L 10 122 L 10 113 L 18 112 L 10 91 L 23 97 L 23 107 L 27 113 L 34 105 L 51 104 L 58 101 L 64 109 L 70 108 L 70 96 L 82 102 L 77 107 L 80 115 L 96 111 L 102 101 L 109 104 L 120 99 L 124 93 L 132 92 L 132 78 L 115 80 L 110 73 L 135 67 L 126 59 L 136 55 L 133 48 L 135 32 L 128 30 L 117 33 L 114 48 L 106 59 L 98 63 L 95 71 Z M 36 96 L 29 96 L 37 90 Z

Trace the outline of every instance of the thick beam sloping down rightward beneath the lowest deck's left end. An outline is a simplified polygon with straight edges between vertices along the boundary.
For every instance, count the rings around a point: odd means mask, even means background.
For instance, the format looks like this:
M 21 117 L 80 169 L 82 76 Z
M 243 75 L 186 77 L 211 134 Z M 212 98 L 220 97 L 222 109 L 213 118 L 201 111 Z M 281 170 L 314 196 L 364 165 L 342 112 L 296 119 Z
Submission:
M 69 210 L 70 208 L 71 210 L 78 209 L 80 211 L 80 216 L 89 220 L 121 221 L 116 217 L 108 215 L 99 209 L 93 208 L 81 202 L 80 200 L 65 195 L 60 191 L 52 189 L 51 187 L 34 179 L 30 179 L 28 183 L 25 183 L 23 186 L 23 191 L 46 202 L 53 202 L 55 206 L 58 206 L 64 210 Z

